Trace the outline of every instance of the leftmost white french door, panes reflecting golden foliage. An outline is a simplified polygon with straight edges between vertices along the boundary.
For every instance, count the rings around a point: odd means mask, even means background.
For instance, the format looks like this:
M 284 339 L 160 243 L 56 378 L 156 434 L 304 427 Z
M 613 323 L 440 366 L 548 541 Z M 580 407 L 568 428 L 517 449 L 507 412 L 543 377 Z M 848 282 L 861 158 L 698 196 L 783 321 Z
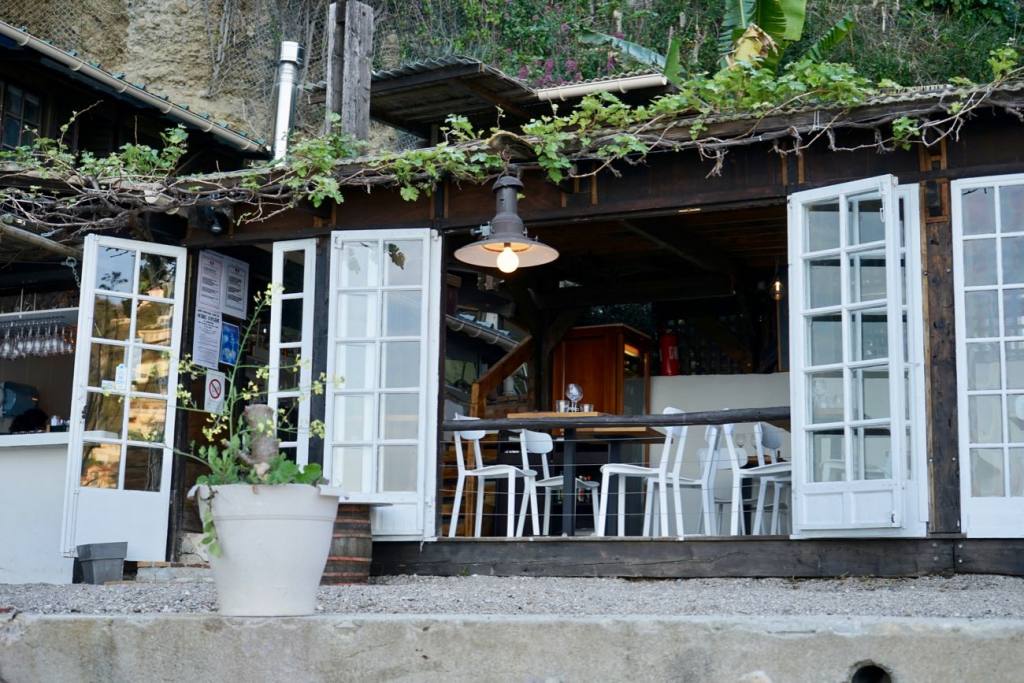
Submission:
M 126 541 L 163 560 L 185 290 L 180 247 L 85 240 L 63 551 Z

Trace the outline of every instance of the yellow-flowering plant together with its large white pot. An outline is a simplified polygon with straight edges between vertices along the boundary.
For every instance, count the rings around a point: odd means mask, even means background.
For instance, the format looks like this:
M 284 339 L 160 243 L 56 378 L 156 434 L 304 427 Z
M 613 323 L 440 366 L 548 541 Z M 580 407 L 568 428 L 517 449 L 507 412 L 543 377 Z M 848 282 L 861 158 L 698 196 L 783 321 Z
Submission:
M 255 298 L 240 348 L 269 305 L 272 289 Z M 307 360 L 298 358 L 274 371 L 298 373 Z M 205 369 L 186 356 L 182 376 L 199 377 Z M 209 468 L 189 495 L 198 494 L 203 544 L 217 587 L 218 610 L 227 615 L 284 616 L 311 614 L 316 589 L 331 545 L 338 512 L 337 496 L 325 495 L 321 466 L 304 468 L 280 450 L 279 431 L 294 429 L 290 416 L 264 401 L 269 366 L 247 365 L 240 358 L 227 374 L 223 408 L 209 413 L 203 429 L 207 443 L 194 443 L 186 457 Z M 254 374 L 246 380 L 240 373 Z M 302 387 L 304 397 L 323 393 L 325 378 Z M 185 387 L 178 387 L 182 408 L 201 411 Z M 323 437 L 323 423 L 313 422 L 309 435 Z

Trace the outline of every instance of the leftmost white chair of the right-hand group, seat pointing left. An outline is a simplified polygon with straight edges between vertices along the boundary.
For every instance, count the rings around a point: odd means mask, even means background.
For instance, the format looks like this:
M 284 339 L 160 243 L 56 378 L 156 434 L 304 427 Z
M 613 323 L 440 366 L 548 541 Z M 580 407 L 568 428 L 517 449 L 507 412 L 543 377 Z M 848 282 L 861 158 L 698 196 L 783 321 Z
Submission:
M 676 408 L 667 408 L 662 411 L 663 415 L 678 415 L 682 411 Z M 679 537 L 683 536 L 683 507 L 681 485 L 683 482 L 691 480 L 680 476 L 680 469 L 683 461 L 683 450 L 686 447 L 687 427 L 666 427 L 665 444 L 662 447 L 662 456 L 658 459 L 657 467 L 646 467 L 644 465 L 631 465 L 629 463 L 608 463 L 601 466 L 601 507 L 597 518 L 597 529 L 595 536 L 604 536 L 604 526 L 608 513 L 608 487 L 611 477 L 618 477 L 618 536 L 626 536 L 626 479 L 638 477 L 647 482 L 647 501 L 644 504 L 643 513 L 643 535 L 651 533 L 651 516 L 653 512 L 654 494 L 658 499 L 658 517 L 660 519 L 660 535 L 669 536 L 669 497 L 668 487 L 673 486 L 673 494 L 676 504 L 676 531 Z M 669 471 L 669 468 L 672 471 Z

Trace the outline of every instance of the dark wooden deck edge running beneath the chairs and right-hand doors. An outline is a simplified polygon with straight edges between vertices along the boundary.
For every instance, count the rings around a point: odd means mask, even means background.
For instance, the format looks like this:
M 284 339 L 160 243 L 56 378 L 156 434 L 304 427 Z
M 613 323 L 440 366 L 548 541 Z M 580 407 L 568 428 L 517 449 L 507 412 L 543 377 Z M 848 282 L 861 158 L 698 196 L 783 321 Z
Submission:
M 375 543 L 371 573 L 458 577 L 1024 575 L 1024 539 L 443 539 Z

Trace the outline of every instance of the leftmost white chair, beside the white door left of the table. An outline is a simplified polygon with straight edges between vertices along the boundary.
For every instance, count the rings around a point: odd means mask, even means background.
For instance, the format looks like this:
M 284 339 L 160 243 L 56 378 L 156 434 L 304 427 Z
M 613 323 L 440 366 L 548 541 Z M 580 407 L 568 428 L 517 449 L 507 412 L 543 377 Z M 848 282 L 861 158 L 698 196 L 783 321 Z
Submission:
M 477 420 L 478 418 L 467 418 L 461 415 L 455 416 L 456 420 Z M 537 488 L 534 486 L 534 481 L 537 479 L 537 472 L 530 470 L 529 468 L 518 468 L 515 465 L 483 465 L 483 459 L 480 455 L 480 439 L 486 435 L 487 432 L 482 429 L 474 430 L 461 430 L 455 432 L 455 457 L 456 463 L 459 466 L 459 481 L 455 486 L 455 503 L 452 506 L 452 519 L 449 522 L 449 538 L 455 538 L 455 530 L 459 522 L 459 508 L 462 506 L 462 492 L 466 484 L 466 477 L 476 477 L 479 481 L 476 493 L 476 519 L 473 528 L 473 536 L 479 538 L 480 527 L 483 521 L 483 489 L 486 486 L 488 480 L 499 480 L 503 478 L 508 479 L 509 485 L 509 508 L 508 508 L 508 532 L 506 536 L 508 538 L 513 538 L 513 536 L 522 536 L 523 522 L 525 521 L 526 504 L 529 499 L 532 499 L 534 505 L 534 535 L 537 536 L 538 532 L 538 519 L 537 519 Z M 463 453 L 463 441 L 473 444 L 473 460 L 475 467 L 473 469 L 466 468 L 466 460 Z M 523 496 L 522 505 L 519 509 L 519 524 L 516 526 L 515 518 L 515 490 L 516 490 L 516 480 L 522 478 L 524 480 L 523 484 Z

